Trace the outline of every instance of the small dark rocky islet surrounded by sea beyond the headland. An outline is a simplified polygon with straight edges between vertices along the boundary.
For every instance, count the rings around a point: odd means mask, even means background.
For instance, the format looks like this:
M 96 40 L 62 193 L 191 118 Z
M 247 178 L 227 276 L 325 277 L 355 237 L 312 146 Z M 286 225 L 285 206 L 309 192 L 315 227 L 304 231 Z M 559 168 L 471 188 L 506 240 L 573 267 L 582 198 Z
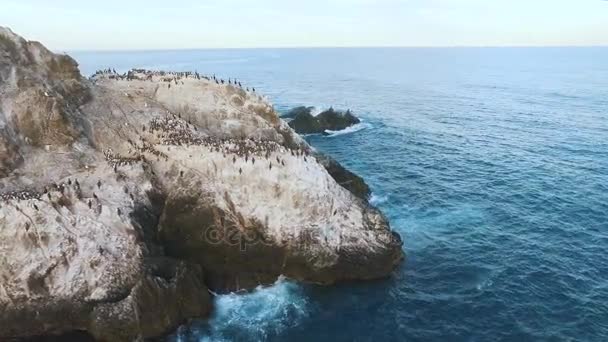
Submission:
M 318 134 L 326 131 L 340 131 L 361 121 L 355 117 L 350 110 L 339 112 L 330 108 L 317 116 L 312 115 L 312 107 L 297 107 L 285 115 L 284 118 L 292 118 L 289 127 L 300 134 Z

